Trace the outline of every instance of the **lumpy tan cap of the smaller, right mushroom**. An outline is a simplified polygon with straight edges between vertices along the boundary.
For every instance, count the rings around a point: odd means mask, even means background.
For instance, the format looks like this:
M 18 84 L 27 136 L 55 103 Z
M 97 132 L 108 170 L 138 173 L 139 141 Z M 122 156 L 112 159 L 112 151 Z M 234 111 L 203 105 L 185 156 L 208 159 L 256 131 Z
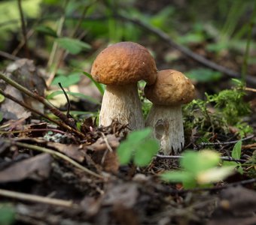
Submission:
M 156 83 L 145 86 L 145 96 L 153 104 L 178 106 L 194 99 L 195 89 L 190 80 L 181 72 L 173 70 L 159 71 Z

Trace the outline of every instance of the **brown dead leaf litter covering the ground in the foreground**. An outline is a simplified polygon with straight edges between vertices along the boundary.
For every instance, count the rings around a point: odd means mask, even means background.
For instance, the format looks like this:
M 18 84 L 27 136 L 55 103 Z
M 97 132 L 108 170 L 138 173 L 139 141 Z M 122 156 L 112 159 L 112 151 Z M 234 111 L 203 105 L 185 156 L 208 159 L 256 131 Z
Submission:
M 20 64 L 25 65 L 26 73 L 35 73 L 31 62 Z M 127 125 L 113 121 L 108 127 L 96 127 L 92 118 L 86 118 L 81 124 L 84 133 L 81 139 L 32 118 L 30 112 L 24 114 L 14 108 L 2 108 L 14 115 L 4 114 L 1 129 L 7 133 L 2 133 L 0 139 L 0 196 L 1 190 L 14 190 L 45 198 L 43 203 L 33 201 L 32 197 L 18 200 L 2 195 L 1 203 L 10 202 L 14 208 L 17 224 L 255 223 L 256 199 L 250 184 L 224 190 L 184 191 L 180 184 L 164 183 L 157 176 L 166 169 L 177 168 L 176 160 L 170 163 L 156 158 L 141 168 L 132 164 L 120 166 L 117 148 L 126 138 Z M 104 178 L 89 175 L 54 154 L 33 151 L 16 143 L 65 154 Z M 47 202 L 49 197 L 71 204 L 53 205 Z

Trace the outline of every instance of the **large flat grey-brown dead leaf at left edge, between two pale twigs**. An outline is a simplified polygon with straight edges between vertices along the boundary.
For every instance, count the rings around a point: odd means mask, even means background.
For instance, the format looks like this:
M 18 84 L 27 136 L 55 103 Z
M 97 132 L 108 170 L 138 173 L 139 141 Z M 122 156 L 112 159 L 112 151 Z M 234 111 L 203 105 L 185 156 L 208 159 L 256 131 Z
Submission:
M 44 153 L 14 163 L 0 171 L 0 182 L 21 181 L 25 178 L 44 180 L 50 174 L 52 160 L 50 154 Z

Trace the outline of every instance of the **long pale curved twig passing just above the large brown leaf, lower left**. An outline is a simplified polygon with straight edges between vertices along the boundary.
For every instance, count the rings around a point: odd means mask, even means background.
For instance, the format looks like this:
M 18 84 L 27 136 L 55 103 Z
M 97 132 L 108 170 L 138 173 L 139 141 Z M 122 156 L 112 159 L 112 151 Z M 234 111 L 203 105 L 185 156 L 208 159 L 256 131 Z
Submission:
M 90 169 L 87 169 L 86 167 L 77 163 L 75 160 L 72 160 L 70 157 L 66 156 L 65 154 L 60 153 L 59 151 L 53 151 L 51 149 L 43 148 L 43 147 L 40 147 L 38 145 L 30 145 L 30 144 L 26 144 L 26 143 L 22 143 L 22 142 L 16 142 L 16 141 L 14 142 L 14 141 L 9 140 L 9 139 L 2 139 L 2 141 L 8 142 L 10 144 L 17 145 L 17 146 L 20 146 L 20 147 L 29 148 L 29 149 L 32 149 L 32 150 L 35 150 L 35 151 L 42 151 L 42 152 L 45 152 L 45 153 L 48 153 L 48 154 L 52 154 L 54 156 L 62 158 L 62 160 L 68 161 L 73 166 L 78 167 L 79 169 L 82 169 L 84 172 L 87 172 L 87 174 L 89 174 L 89 175 L 93 175 L 96 178 L 101 178 L 101 179 L 104 178 L 102 175 L 99 175 L 96 172 L 93 172 Z

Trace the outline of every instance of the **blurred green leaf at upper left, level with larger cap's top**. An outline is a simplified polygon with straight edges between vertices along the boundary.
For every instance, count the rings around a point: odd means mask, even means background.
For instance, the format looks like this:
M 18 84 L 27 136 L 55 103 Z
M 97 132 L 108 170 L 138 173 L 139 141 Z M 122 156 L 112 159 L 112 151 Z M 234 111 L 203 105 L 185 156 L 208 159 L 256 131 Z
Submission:
M 90 44 L 85 43 L 81 40 L 69 38 L 69 37 L 59 37 L 56 38 L 56 42 L 59 43 L 63 49 L 76 55 L 84 49 L 90 49 Z

